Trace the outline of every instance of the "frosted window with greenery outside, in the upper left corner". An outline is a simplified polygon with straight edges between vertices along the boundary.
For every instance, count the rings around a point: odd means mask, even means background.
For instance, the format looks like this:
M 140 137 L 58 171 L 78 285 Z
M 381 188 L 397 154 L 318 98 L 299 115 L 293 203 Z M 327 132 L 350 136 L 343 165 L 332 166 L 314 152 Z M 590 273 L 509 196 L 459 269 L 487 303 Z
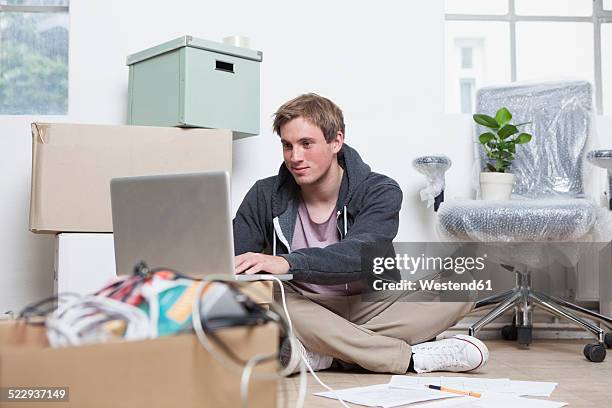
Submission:
M 0 114 L 68 112 L 68 0 L 0 0 Z

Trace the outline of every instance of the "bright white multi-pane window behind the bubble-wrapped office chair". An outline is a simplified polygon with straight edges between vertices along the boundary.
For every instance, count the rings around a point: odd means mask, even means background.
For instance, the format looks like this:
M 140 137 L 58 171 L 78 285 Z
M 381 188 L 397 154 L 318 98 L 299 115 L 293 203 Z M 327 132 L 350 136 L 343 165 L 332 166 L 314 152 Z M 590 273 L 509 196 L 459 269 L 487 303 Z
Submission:
M 463 42 L 475 88 L 511 81 L 586 79 L 598 113 L 612 114 L 612 0 L 446 0 L 446 111 L 464 112 Z M 459 48 L 457 48 L 459 47 Z M 474 92 L 471 93 L 474 95 Z

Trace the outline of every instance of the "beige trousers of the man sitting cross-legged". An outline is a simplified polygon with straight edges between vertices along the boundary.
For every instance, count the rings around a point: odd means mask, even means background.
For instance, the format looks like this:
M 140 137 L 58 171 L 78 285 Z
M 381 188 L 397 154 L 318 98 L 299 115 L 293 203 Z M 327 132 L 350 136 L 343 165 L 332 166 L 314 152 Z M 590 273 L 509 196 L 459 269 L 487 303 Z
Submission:
M 411 301 L 399 291 L 370 302 L 361 295 L 301 294 L 291 284 L 283 286 L 293 330 L 304 347 L 374 372 L 406 373 L 411 344 L 437 336 L 474 307 L 473 302 Z

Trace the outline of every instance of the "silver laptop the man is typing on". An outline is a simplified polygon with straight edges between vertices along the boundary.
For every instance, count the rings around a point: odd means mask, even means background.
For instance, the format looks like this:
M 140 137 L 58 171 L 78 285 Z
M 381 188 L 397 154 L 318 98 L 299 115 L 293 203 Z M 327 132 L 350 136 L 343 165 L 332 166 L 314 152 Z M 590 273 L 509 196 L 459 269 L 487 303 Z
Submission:
M 234 239 L 227 172 L 123 177 L 111 180 L 118 274 L 145 261 L 189 275 L 234 275 Z M 261 280 L 262 275 L 236 275 Z M 289 280 L 291 274 L 275 275 Z

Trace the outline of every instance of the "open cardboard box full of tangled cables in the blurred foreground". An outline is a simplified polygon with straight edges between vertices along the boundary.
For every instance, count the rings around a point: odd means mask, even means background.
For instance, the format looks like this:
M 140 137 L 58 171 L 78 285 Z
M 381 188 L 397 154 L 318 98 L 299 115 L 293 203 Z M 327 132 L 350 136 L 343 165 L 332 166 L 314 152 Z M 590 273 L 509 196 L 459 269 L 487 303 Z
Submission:
M 273 407 L 283 320 L 236 282 L 141 266 L 0 322 L 0 407 Z

